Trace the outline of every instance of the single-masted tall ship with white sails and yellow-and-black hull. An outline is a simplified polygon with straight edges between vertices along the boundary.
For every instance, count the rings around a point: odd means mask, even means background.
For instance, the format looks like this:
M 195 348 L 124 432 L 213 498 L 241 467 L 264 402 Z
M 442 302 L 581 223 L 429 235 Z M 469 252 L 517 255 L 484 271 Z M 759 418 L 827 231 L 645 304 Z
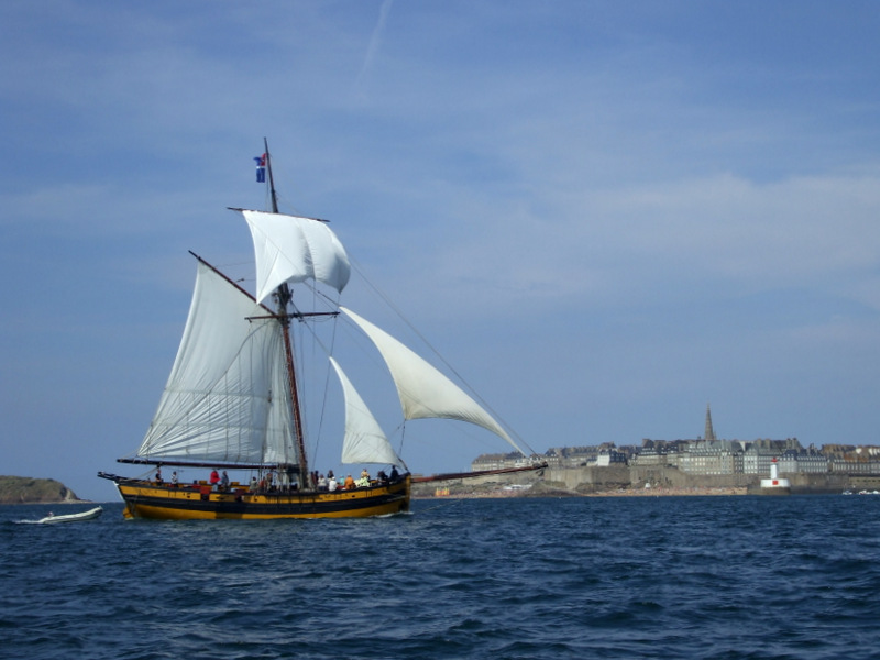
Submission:
M 251 231 L 255 290 L 245 290 L 240 280 L 190 253 L 196 260 L 196 284 L 177 358 L 140 448 L 118 459 L 146 466 L 147 473 L 98 473 L 116 483 L 125 517 L 330 518 L 409 509 L 414 476 L 332 356 L 332 346 L 327 350 L 327 364 L 338 376 L 344 399 L 339 407 L 345 417 L 340 460 L 364 469 L 361 473 L 352 470 L 360 479 L 345 484 L 341 474 L 339 479 L 331 472 L 323 475 L 310 465 L 300 400 L 304 359 L 296 351 L 294 322 L 350 321 L 381 354 L 394 380 L 404 422 L 442 418 L 476 425 L 522 455 L 521 468 L 491 472 L 541 469 L 452 380 L 339 305 L 352 271 L 345 248 L 327 221 L 278 211 L 265 140 L 264 148 L 256 158 L 257 182 L 266 184 L 270 210 L 231 208 Z M 305 293 L 295 296 L 299 289 Z M 309 304 L 308 310 L 300 298 Z M 314 301 L 319 305 L 312 306 Z M 374 466 L 375 474 L 366 465 Z M 178 470 L 187 474 L 210 471 L 210 479 L 178 480 Z

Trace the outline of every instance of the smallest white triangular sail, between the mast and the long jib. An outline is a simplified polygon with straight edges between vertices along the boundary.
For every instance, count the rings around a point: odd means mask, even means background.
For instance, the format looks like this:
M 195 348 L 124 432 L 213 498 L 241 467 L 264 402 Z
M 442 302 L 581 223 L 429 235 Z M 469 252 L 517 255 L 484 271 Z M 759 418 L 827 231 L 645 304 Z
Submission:
M 342 393 L 345 397 L 345 439 L 342 441 L 343 463 L 385 463 L 403 465 L 403 461 L 392 449 L 391 442 L 380 428 L 376 418 L 364 404 L 361 395 L 354 389 L 349 377 L 330 358 L 337 371 Z

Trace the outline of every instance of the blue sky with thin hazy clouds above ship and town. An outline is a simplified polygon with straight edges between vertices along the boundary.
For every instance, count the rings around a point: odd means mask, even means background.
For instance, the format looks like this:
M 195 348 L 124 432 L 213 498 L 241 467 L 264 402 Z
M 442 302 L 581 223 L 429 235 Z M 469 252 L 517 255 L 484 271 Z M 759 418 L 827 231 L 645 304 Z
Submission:
M 707 403 L 723 438 L 879 443 L 878 33 L 846 0 L 0 3 L 0 473 L 113 497 L 187 250 L 252 258 L 226 207 L 264 206 L 264 135 L 283 209 L 532 449 L 694 438 Z

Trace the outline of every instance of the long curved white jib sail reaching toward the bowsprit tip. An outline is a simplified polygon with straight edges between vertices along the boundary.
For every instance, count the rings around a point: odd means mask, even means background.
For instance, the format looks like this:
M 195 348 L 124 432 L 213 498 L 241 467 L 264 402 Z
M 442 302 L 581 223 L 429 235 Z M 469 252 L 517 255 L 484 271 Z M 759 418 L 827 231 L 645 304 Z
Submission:
M 475 424 L 504 438 L 525 455 L 480 404 L 426 360 L 352 310 L 339 309 L 361 327 L 382 353 L 397 386 L 404 419 L 442 418 Z

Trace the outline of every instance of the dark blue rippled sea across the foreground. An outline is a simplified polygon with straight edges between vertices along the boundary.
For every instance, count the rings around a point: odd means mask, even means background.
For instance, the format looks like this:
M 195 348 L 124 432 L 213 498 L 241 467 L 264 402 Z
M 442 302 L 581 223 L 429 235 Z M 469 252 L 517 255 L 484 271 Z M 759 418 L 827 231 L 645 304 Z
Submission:
M 20 524 L 0 657 L 880 652 L 880 496 L 421 501 L 365 520 Z M 91 508 L 54 507 L 55 514 Z

